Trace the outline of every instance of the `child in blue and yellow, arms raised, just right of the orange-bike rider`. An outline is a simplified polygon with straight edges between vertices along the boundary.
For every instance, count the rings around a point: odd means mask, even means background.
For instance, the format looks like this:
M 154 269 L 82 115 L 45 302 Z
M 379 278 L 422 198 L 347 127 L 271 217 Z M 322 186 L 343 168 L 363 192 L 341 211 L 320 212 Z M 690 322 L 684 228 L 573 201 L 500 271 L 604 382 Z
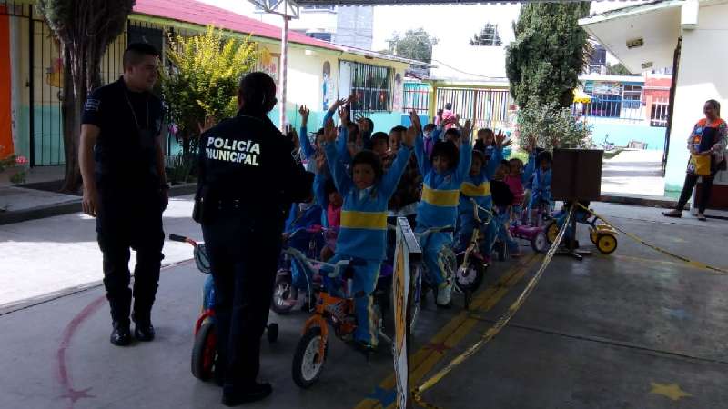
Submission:
M 413 124 L 415 120 L 413 119 Z M 460 185 L 470 172 L 472 145 L 470 145 L 470 121 L 461 133 L 460 153 L 451 142 L 438 141 L 432 147 L 430 158 L 425 157 L 425 146 L 421 135 L 419 118 L 416 119 L 420 135 L 415 141 L 415 155 L 424 181 L 422 199 L 417 208 L 417 232 L 430 228 L 455 226 L 460 205 Z M 452 234 L 438 232 L 420 236 L 422 256 L 430 283 L 438 288 L 437 304 L 450 305 L 452 283 L 440 266 L 440 251 L 452 244 Z

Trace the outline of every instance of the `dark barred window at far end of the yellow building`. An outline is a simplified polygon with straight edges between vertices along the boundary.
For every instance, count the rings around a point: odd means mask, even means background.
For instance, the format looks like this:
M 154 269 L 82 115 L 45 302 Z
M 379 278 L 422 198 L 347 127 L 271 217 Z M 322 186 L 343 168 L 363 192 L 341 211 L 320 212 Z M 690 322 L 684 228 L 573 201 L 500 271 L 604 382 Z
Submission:
M 359 112 L 392 110 L 394 70 L 386 66 L 341 61 L 339 96 L 357 95 L 351 109 Z

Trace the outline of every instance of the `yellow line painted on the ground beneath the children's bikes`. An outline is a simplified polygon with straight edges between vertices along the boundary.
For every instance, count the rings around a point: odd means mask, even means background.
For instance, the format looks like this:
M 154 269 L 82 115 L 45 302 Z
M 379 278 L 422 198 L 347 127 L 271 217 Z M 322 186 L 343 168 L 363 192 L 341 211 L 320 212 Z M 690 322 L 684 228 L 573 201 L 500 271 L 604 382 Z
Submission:
M 518 284 L 540 256 L 531 256 L 513 265 L 494 284 L 477 294 L 470 304 L 470 311 L 461 311 L 445 324 L 440 331 L 430 338 L 430 341 L 420 346 L 420 349 L 410 357 L 410 385 L 420 382 L 432 368 L 438 364 L 447 353 L 480 323 L 480 319 L 472 315 L 477 312 L 490 311 L 498 304 L 511 288 Z M 389 374 L 375 391 L 355 406 L 356 409 L 375 409 L 394 407 L 396 392 L 394 374 Z

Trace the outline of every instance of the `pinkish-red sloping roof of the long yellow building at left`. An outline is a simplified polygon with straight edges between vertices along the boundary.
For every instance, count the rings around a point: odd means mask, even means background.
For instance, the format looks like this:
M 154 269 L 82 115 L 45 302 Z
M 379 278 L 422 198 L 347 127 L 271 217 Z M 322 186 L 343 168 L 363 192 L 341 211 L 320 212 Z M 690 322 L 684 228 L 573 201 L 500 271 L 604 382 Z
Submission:
M 254 18 L 238 15 L 214 5 L 206 5 L 194 0 L 136 0 L 134 13 L 163 17 L 195 25 L 215 25 L 239 33 L 248 33 L 274 40 L 281 39 L 280 27 L 276 25 L 269 25 Z M 343 51 L 338 45 L 317 40 L 294 31 L 288 32 L 288 41 L 301 45 Z

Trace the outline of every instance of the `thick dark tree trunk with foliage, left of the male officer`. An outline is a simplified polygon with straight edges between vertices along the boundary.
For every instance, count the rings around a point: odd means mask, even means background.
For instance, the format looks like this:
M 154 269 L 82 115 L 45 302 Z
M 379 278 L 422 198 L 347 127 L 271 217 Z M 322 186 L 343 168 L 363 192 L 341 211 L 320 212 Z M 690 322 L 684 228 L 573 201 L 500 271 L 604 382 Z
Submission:
M 135 0 L 38 0 L 37 11 L 53 30 L 63 56 L 63 141 L 66 175 L 62 190 L 81 186 L 78 147 L 86 95 L 101 85 L 101 58 L 124 32 Z

